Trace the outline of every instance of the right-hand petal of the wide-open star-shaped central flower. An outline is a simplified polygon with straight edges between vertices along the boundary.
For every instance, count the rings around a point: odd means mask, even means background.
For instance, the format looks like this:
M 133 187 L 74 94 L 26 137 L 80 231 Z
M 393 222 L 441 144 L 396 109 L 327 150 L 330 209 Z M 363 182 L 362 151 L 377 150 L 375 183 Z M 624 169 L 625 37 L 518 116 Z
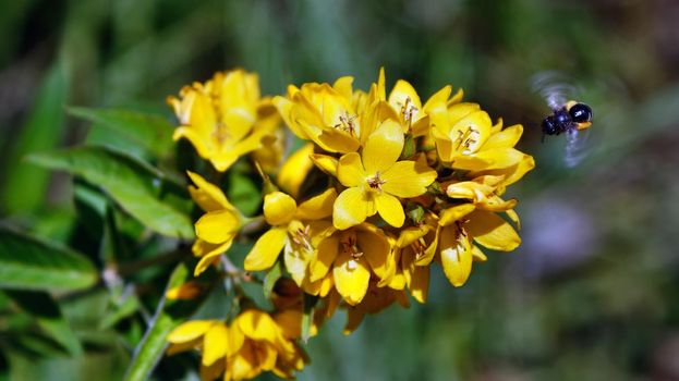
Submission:
M 436 171 L 421 162 L 405 160 L 391 165 L 380 179 L 386 193 L 403 198 L 417 197 L 436 180 Z

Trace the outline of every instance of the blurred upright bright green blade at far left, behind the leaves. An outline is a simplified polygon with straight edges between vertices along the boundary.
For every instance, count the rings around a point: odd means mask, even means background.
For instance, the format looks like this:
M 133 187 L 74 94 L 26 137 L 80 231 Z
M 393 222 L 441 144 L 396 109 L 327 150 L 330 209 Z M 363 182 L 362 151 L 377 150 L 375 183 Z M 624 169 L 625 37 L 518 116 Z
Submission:
M 2 209 L 9 213 L 31 211 L 41 205 L 49 172 L 24 162 L 24 156 L 57 147 L 63 127 L 63 103 L 69 79 L 63 65 L 57 62 L 47 72 L 38 89 L 33 110 L 28 114 L 9 160 L 4 162 L 7 181 L 2 190 Z

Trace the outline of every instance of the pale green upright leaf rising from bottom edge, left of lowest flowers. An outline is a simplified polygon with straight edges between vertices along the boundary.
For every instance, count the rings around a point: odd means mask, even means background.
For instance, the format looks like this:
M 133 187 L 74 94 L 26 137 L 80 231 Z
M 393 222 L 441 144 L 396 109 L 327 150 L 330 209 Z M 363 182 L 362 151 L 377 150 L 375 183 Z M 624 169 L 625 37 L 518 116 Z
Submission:
M 170 275 L 166 291 L 185 283 L 190 278 L 189 267 L 185 263 L 179 265 Z M 134 349 L 134 356 L 128 367 L 124 380 L 142 381 L 148 379 L 168 346 L 168 334 L 189 316 L 193 315 L 202 302 L 203 298 L 168 300 L 165 296 L 162 297 L 142 342 Z

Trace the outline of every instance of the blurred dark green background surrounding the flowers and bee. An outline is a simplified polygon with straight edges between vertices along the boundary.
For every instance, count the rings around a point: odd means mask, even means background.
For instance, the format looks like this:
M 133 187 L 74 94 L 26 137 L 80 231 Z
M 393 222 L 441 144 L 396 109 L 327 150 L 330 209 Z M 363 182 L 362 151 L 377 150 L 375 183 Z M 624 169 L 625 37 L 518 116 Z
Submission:
M 338 314 L 310 342 L 313 362 L 299 379 L 679 380 L 677 20 L 671 0 L 3 1 L 2 222 L 77 238 L 69 177 L 22 158 L 124 142 L 65 106 L 171 120 L 165 97 L 218 70 L 257 72 L 264 94 L 281 94 L 341 75 L 366 89 L 384 65 L 388 89 L 405 78 L 427 98 L 452 84 L 492 116 L 524 125 L 520 148 L 537 168 L 509 190 L 523 244 L 490 254 L 461 288 L 434 271 L 428 304 L 368 317 L 351 336 Z M 531 78 L 546 71 L 594 109 L 587 157 L 574 169 L 562 164 L 563 139 L 539 143 L 549 110 Z M 106 295 L 78 300 L 62 309 L 85 351 L 4 351 L 0 379 L 119 379 L 131 347 L 96 329 Z M 134 342 L 143 327 L 122 331 Z M 155 377 L 195 378 L 192 361 L 163 360 Z

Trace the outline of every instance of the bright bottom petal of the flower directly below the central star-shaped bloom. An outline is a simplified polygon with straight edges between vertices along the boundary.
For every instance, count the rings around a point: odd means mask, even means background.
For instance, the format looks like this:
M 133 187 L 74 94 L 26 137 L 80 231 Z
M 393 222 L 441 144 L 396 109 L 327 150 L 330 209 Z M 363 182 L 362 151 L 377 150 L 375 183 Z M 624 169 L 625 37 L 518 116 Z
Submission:
M 340 254 L 335 259 L 332 268 L 335 287 L 344 300 L 352 306 L 363 300 L 371 280 L 371 270 L 365 259 L 353 258 L 348 253 Z

